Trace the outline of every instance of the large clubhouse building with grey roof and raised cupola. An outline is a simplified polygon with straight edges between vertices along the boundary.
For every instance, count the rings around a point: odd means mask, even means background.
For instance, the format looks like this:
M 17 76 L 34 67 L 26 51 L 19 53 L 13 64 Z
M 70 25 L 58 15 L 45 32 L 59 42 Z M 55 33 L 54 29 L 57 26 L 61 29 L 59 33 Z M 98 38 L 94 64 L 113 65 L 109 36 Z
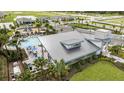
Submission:
M 77 31 L 42 36 L 39 40 L 42 50 L 48 53 L 49 61 L 63 59 L 65 64 L 97 56 L 102 52 L 103 46 L 101 40 L 85 38 Z M 43 52 L 42 55 L 44 56 Z

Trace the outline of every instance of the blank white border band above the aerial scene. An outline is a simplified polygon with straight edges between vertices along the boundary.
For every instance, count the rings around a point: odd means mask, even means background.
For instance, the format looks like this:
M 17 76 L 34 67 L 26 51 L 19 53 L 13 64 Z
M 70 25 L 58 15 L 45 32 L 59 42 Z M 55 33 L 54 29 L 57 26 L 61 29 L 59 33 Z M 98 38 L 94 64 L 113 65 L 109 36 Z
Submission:
M 123 0 L 2 0 L 0 10 L 123 11 Z

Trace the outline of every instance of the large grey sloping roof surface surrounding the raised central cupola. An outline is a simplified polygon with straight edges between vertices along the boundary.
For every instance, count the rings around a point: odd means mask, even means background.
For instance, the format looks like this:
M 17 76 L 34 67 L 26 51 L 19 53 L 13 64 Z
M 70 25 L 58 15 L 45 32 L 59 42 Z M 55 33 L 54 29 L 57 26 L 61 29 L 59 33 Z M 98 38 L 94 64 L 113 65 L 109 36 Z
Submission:
M 83 42 L 81 42 L 80 48 L 67 51 L 60 43 L 60 41 L 74 38 L 83 40 Z M 85 40 L 84 37 L 77 31 L 42 36 L 39 37 L 39 40 L 54 60 L 63 59 L 65 63 L 84 57 L 99 50 L 97 46 Z

